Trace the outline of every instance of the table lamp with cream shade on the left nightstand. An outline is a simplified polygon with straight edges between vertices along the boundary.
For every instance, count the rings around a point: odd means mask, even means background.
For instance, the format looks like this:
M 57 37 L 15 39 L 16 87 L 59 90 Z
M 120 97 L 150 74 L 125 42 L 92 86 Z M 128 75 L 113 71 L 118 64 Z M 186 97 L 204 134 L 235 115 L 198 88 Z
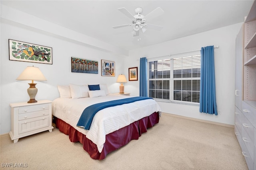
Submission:
M 28 83 L 30 87 L 28 88 L 28 95 L 30 97 L 30 100 L 28 103 L 35 103 L 37 102 L 35 97 L 37 93 L 36 83 L 34 83 L 34 80 L 36 81 L 46 81 L 46 78 L 42 74 L 42 72 L 39 70 L 38 67 L 34 66 L 28 66 L 21 74 L 16 78 L 16 80 L 32 80 L 32 83 Z

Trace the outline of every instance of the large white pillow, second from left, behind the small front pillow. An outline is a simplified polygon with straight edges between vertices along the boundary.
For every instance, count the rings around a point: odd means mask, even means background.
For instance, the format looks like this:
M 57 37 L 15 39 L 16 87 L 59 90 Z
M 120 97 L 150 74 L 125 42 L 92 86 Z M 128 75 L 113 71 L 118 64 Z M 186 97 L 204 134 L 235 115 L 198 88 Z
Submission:
M 88 85 L 76 85 L 76 84 L 69 84 L 69 85 L 70 85 L 71 97 L 73 99 L 82 98 L 82 97 L 89 97 Z

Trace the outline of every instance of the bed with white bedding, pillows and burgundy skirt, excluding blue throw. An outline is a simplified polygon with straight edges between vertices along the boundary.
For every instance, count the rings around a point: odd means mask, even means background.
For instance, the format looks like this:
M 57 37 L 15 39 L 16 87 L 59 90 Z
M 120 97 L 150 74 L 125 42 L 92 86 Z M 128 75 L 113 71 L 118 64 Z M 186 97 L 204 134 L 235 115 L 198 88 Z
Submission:
M 92 119 L 90 130 L 85 130 L 77 126 L 85 108 L 97 103 L 134 97 L 109 94 L 105 84 L 99 85 L 100 88 L 96 90 L 88 89 L 87 85 L 75 86 L 80 88 L 76 89 L 77 96 L 74 96 L 73 84 L 65 88 L 58 86 L 60 98 L 52 102 L 52 114 L 60 132 L 69 135 L 71 142 L 80 142 L 93 159 L 106 158 L 108 153 L 138 139 L 148 128 L 159 122 L 160 107 L 155 100 L 145 99 L 99 110 Z M 69 88 L 71 95 L 68 94 Z

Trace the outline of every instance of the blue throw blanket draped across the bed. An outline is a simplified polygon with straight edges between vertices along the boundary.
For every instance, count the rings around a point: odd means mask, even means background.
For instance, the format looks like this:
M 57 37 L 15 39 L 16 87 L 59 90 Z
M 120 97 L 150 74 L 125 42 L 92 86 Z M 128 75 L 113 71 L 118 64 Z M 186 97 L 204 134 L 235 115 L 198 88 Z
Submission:
M 108 102 L 93 104 L 84 109 L 76 126 L 78 126 L 80 128 L 84 128 L 86 130 L 90 130 L 90 126 L 92 124 L 92 119 L 98 111 L 100 111 L 104 108 L 118 106 L 118 105 L 127 104 L 127 103 L 132 103 L 132 102 L 136 102 L 139 100 L 146 100 L 146 99 L 153 99 L 153 98 L 132 97 L 132 98 L 124 98 L 124 99 L 120 99 L 120 100 L 112 100 L 112 101 L 108 101 Z

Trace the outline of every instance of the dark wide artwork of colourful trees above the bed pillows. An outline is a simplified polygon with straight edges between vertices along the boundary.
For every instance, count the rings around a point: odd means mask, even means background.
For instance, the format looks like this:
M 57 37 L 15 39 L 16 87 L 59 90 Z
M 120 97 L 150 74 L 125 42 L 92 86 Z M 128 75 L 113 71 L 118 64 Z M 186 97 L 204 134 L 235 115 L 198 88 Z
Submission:
M 98 74 L 98 61 L 71 57 L 71 72 Z

